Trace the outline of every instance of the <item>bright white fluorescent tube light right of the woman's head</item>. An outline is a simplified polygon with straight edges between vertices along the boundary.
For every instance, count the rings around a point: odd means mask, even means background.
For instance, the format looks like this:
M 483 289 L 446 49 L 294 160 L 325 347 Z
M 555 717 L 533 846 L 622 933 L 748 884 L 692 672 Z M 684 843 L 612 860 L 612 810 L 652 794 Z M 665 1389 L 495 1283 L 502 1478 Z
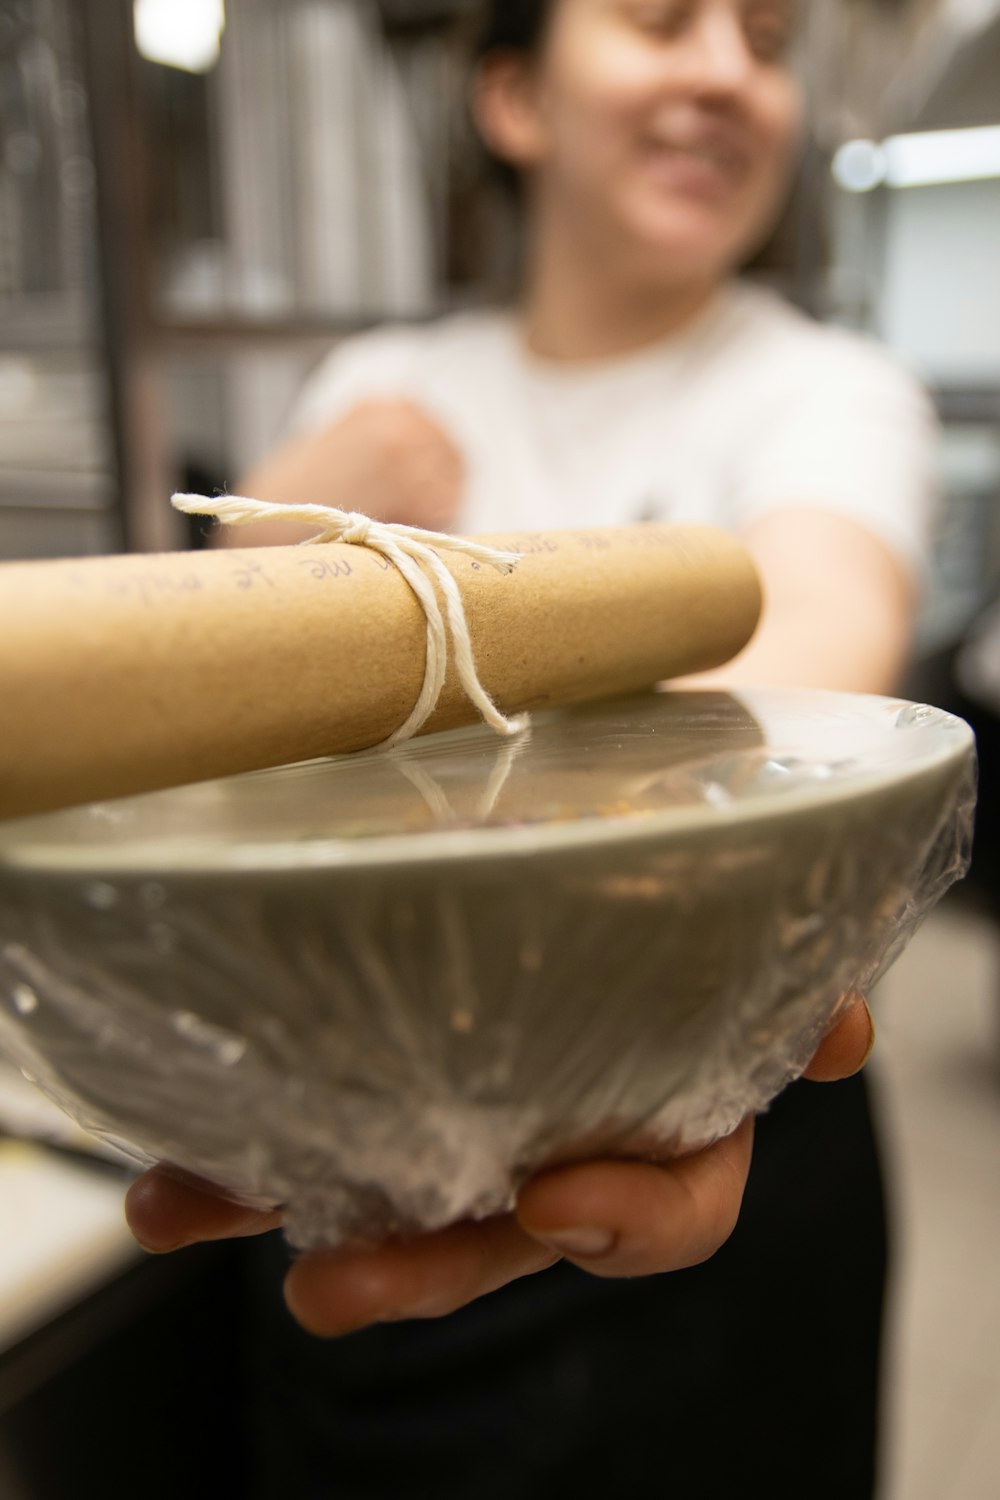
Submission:
M 891 135 L 882 144 L 846 141 L 832 172 L 844 192 L 985 182 L 1000 177 L 1000 124 Z

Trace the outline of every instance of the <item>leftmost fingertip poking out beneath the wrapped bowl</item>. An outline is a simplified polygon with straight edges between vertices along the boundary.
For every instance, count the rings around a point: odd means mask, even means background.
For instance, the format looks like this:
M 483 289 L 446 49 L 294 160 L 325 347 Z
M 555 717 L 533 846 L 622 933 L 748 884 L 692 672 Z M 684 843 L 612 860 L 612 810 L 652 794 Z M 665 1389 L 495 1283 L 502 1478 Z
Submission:
M 207 1239 L 243 1239 L 277 1228 L 280 1214 L 228 1203 L 207 1184 L 199 1186 L 163 1167 L 144 1172 L 124 1198 L 129 1228 L 144 1250 L 165 1256 Z

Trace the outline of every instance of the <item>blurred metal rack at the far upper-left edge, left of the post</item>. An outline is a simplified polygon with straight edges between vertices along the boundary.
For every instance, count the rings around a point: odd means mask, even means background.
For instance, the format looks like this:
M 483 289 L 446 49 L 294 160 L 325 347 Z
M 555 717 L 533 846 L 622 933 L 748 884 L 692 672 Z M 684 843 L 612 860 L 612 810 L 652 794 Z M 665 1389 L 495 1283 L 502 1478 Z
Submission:
M 0 21 L 0 556 L 106 550 L 120 530 L 75 14 L 19 0 Z

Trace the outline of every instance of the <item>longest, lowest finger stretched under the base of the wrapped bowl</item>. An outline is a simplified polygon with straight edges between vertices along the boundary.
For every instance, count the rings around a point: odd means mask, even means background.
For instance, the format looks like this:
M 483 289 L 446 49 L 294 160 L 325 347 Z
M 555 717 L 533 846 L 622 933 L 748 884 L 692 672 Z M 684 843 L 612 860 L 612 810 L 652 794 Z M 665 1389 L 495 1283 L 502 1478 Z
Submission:
M 442 1317 L 558 1258 L 511 1216 L 454 1224 L 412 1240 L 303 1256 L 285 1300 L 307 1332 L 334 1338 L 369 1323 Z

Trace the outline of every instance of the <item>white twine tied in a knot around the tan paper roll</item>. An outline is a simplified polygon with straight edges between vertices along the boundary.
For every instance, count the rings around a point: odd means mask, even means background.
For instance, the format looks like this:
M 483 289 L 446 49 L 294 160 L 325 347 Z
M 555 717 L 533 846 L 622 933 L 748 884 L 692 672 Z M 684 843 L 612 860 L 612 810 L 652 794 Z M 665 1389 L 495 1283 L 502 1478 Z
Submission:
M 412 712 L 405 724 L 384 741 L 384 746 L 412 740 L 427 723 L 444 688 L 448 669 L 448 646 L 454 652 L 459 680 L 466 696 L 498 735 L 519 735 L 529 724 L 528 714 L 507 718 L 480 682 L 472 656 L 469 626 L 459 585 L 444 566 L 438 552 L 457 552 L 460 556 L 484 562 L 498 573 L 513 573 L 520 562 L 519 552 L 498 552 L 466 537 L 451 537 L 441 531 L 421 531 L 417 526 L 397 526 L 372 520 L 351 510 L 334 510 L 333 506 L 271 506 L 261 500 L 246 500 L 241 495 L 220 495 L 208 500 L 204 495 L 174 495 L 172 506 L 186 516 L 214 516 L 226 526 L 252 526 L 259 520 L 315 522 L 322 530 L 307 537 L 300 546 L 319 546 L 325 542 L 346 542 L 369 548 L 390 561 L 406 579 L 427 620 L 427 658 L 424 681 Z M 445 615 L 441 612 L 435 584 L 444 594 Z M 450 638 L 450 639 L 448 639 Z

